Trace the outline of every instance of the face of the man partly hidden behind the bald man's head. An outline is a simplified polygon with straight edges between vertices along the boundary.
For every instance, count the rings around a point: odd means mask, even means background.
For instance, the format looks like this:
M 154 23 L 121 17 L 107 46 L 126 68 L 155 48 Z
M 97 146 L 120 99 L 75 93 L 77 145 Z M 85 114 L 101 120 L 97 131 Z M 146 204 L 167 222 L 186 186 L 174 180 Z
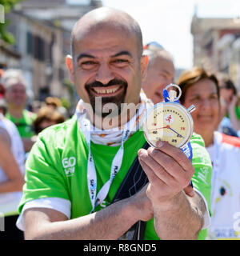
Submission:
M 174 72 L 174 64 L 170 59 L 157 57 L 150 64 L 142 89 L 154 104 L 163 101 L 162 91 L 167 85 L 174 82 Z

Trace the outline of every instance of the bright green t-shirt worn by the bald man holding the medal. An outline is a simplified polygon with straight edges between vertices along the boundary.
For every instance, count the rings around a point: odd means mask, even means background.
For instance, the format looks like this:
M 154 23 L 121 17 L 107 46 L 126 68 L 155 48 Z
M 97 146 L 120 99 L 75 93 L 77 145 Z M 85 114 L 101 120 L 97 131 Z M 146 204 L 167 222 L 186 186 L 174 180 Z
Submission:
M 124 143 L 122 166 L 110 186 L 105 206 L 110 203 L 127 171 L 137 157 L 146 139 L 138 130 Z M 192 182 L 206 198 L 210 209 L 211 162 L 202 138 L 194 134 L 191 139 L 195 174 Z M 97 193 L 110 178 L 110 166 L 120 146 L 104 146 L 91 142 L 91 153 L 97 172 Z M 196 154 L 197 152 L 197 154 Z M 65 198 L 71 202 L 71 218 L 90 214 L 92 208 L 87 187 L 88 147 L 82 132 L 78 128 L 76 117 L 50 126 L 38 135 L 26 161 L 26 184 L 23 187 L 24 204 L 37 198 Z M 101 210 L 102 205 L 95 210 Z M 204 239 L 206 230 L 198 238 Z M 154 220 L 146 225 L 146 239 L 158 239 L 154 231 Z

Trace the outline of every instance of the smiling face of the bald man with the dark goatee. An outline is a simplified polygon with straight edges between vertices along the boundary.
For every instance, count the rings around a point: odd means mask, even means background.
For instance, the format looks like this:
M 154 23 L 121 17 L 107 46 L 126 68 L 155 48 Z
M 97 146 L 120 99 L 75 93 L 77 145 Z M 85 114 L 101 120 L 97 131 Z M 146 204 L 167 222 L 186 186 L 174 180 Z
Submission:
M 67 61 L 68 62 L 68 61 Z M 84 102 L 92 105 L 102 99 L 106 103 L 139 102 L 142 75 L 145 74 L 145 59 L 138 56 L 135 35 L 124 33 L 111 26 L 103 26 L 75 40 L 74 67 L 70 69 L 72 82 Z

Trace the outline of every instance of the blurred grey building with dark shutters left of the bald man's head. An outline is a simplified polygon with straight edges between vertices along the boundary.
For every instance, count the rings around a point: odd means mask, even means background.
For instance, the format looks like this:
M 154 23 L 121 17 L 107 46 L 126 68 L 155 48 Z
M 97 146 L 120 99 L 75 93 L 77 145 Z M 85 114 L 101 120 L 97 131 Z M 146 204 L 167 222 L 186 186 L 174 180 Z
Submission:
M 65 0 L 25 0 L 6 14 L 15 44 L 0 38 L 0 64 L 22 70 L 30 98 L 69 98 L 64 82 L 69 78 L 65 58 L 70 54 L 70 32 L 78 18 L 99 6 L 101 1 L 70 5 Z

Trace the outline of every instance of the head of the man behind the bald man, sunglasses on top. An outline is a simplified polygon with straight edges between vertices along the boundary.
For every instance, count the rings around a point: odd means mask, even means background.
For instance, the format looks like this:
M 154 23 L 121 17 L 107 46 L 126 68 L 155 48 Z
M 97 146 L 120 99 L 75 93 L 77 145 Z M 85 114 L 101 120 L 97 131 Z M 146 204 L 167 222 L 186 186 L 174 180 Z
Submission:
M 170 53 L 156 42 L 150 42 L 143 54 L 148 56 L 146 78 L 142 82 L 142 89 L 154 104 L 163 101 L 163 89 L 174 82 L 174 61 Z

